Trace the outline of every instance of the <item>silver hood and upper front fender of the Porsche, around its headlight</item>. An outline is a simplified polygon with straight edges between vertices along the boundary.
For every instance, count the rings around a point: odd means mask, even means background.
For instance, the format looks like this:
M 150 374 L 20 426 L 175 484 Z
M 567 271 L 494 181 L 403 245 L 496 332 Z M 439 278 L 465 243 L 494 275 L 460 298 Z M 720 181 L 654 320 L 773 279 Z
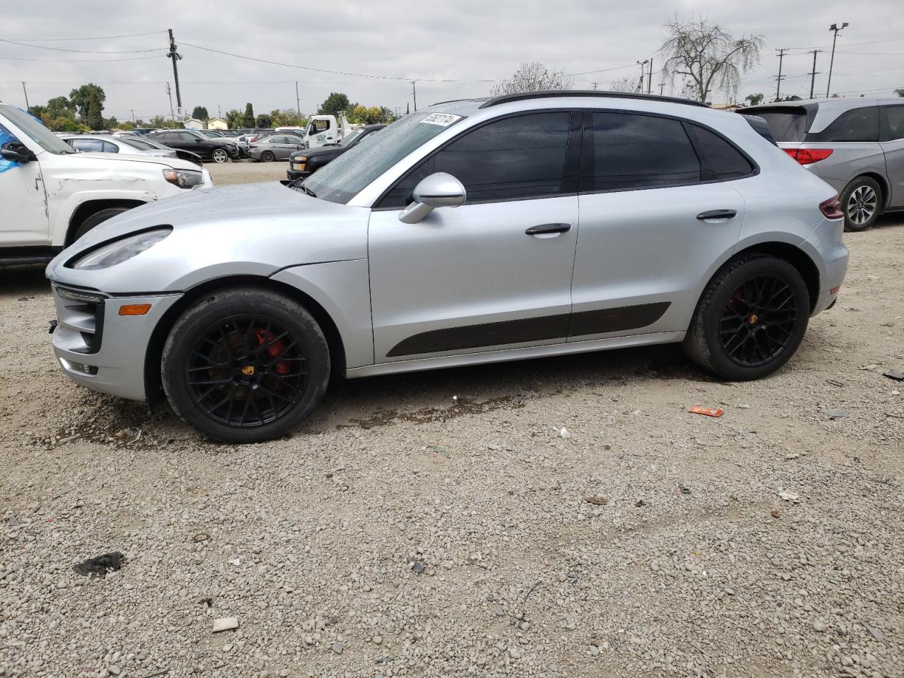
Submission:
M 278 183 L 194 189 L 104 221 L 53 259 L 47 275 L 113 294 L 168 292 L 212 278 L 366 259 L 370 212 Z M 137 257 L 97 270 L 66 266 L 102 244 L 158 226 L 173 231 Z

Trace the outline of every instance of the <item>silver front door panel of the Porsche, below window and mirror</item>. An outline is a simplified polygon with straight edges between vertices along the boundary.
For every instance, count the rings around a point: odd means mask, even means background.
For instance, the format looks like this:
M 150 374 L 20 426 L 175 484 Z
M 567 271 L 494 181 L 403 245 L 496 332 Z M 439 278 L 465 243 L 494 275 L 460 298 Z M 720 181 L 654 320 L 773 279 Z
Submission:
M 377 363 L 565 341 L 578 198 L 466 204 L 405 224 L 372 212 Z M 546 223 L 570 231 L 528 235 Z

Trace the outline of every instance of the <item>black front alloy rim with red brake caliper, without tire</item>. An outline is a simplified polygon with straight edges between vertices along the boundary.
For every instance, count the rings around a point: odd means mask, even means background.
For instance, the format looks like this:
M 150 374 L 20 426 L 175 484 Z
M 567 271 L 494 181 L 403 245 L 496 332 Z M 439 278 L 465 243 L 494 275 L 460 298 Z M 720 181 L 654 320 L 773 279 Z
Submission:
M 264 315 L 232 315 L 213 323 L 184 370 L 194 405 L 236 428 L 282 417 L 301 399 L 307 379 L 298 339 Z

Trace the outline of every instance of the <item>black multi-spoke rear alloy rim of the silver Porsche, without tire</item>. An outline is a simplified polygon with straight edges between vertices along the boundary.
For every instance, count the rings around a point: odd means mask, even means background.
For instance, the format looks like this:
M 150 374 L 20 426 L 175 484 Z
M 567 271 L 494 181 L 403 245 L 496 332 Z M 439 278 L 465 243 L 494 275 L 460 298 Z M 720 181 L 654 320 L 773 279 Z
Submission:
M 743 367 L 765 365 L 786 350 L 799 312 L 785 282 L 768 277 L 746 280 L 722 308 L 722 350 Z

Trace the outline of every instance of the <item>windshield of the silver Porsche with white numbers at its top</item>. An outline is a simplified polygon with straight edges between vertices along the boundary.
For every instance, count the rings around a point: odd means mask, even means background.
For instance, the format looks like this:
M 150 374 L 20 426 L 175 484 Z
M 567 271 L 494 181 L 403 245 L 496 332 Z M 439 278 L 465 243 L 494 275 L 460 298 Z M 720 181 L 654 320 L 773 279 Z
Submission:
M 349 202 L 392 165 L 461 119 L 447 113 L 411 113 L 370 135 L 372 141 L 355 144 L 301 186 L 318 198 Z

